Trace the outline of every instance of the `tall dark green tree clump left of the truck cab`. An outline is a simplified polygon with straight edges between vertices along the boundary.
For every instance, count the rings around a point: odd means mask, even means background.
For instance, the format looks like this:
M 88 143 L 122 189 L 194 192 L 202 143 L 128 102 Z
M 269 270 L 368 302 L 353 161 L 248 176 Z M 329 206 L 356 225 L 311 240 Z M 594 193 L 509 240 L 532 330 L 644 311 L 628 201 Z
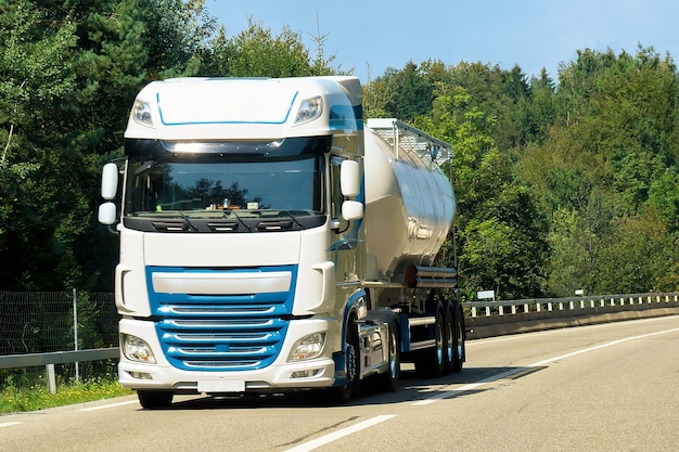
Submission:
M 5 289 L 112 288 L 93 211 L 150 77 L 191 75 L 203 1 L 0 3 L 0 269 Z

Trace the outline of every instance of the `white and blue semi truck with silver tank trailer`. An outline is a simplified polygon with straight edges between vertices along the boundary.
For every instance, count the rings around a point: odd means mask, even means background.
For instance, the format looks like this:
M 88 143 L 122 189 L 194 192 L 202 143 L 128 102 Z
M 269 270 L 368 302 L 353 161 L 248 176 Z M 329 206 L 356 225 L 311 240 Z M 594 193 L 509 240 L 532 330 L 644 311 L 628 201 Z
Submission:
M 462 369 L 456 269 L 435 263 L 452 150 L 396 119 L 364 124 L 361 99 L 355 77 L 138 94 L 99 220 L 120 240 L 119 382 L 143 408 L 308 389 L 342 403 L 368 377 L 395 390 L 401 361 Z

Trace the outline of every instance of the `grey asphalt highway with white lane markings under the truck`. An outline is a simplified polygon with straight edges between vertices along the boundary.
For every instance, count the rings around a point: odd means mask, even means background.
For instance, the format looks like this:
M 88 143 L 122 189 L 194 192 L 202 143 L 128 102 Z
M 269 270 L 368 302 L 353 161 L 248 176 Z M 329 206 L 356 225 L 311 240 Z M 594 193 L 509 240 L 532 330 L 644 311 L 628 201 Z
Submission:
M 479 339 L 460 374 L 311 397 L 134 397 L 0 416 L 3 451 L 670 451 L 679 317 Z

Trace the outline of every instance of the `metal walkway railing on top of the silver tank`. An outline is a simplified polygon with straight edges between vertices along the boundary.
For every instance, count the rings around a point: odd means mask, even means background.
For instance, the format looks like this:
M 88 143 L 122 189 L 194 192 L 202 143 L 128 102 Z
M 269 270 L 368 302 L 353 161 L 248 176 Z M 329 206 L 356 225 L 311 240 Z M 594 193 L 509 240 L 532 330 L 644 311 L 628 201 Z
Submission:
M 428 133 L 395 118 L 368 119 L 368 127 L 394 147 L 396 159 L 399 153 L 414 153 L 421 159 L 438 166 L 452 160 L 452 146 Z

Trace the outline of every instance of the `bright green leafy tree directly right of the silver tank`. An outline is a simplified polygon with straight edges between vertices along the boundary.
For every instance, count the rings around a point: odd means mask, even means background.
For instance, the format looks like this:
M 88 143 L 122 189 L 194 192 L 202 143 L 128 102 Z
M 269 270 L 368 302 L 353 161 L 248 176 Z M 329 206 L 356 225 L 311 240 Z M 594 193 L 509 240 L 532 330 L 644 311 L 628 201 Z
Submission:
M 452 144 L 446 171 L 457 193 L 454 241 L 463 294 L 494 288 L 500 298 L 535 297 L 546 286 L 546 222 L 525 185 L 516 183 L 512 163 L 485 130 L 494 118 L 462 88 L 441 86 L 431 118 L 418 126 Z M 461 112 L 462 111 L 462 112 Z

